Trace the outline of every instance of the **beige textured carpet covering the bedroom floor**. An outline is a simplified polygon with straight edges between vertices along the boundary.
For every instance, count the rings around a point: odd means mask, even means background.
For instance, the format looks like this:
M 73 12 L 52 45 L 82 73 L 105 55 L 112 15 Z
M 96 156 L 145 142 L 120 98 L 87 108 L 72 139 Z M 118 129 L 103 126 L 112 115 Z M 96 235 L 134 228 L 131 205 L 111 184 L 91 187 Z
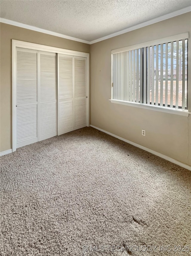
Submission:
M 2 256 L 191 255 L 189 170 L 91 127 L 0 162 Z

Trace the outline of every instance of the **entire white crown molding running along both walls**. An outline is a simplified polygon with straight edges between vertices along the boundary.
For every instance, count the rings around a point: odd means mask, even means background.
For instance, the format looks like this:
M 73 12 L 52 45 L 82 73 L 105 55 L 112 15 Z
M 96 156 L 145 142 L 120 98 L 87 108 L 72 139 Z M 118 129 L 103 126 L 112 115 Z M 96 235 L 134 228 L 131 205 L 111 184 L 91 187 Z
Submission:
M 58 37 L 62 37 L 62 38 L 65 38 L 65 39 L 69 39 L 69 40 L 73 40 L 73 41 L 77 41 L 77 42 L 81 42 L 81 43 L 85 43 L 85 44 L 90 44 L 91 45 L 91 44 L 103 41 L 105 39 L 109 39 L 111 37 L 118 36 L 118 35 L 130 32 L 130 31 L 133 31 L 133 30 L 138 29 L 138 28 L 143 28 L 145 26 L 152 25 L 152 24 L 154 24 L 156 22 L 160 22 L 160 21 L 163 21 L 165 19 L 170 19 L 172 17 L 178 16 L 178 15 L 181 15 L 181 14 L 184 14 L 184 13 L 188 13 L 190 11 L 191 11 L 191 6 L 188 6 L 188 7 L 185 7 L 183 9 L 177 10 L 175 12 L 165 14 L 165 15 L 157 17 L 155 19 L 151 19 L 149 21 L 140 23 L 138 25 L 135 25 L 135 26 L 123 29 L 121 31 L 112 33 L 112 34 L 107 35 L 107 36 L 103 36 L 101 38 L 98 38 L 98 39 L 95 39 L 95 40 L 92 40 L 92 41 L 87 41 L 87 40 L 79 39 L 79 38 L 76 38 L 76 37 L 67 36 L 67 35 L 64 35 L 64 34 L 61 34 L 61 33 L 56 33 L 56 32 L 53 32 L 53 31 L 49 31 L 49 30 L 46 30 L 46 29 L 34 27 L 34 26 L 31 26 L 31 25 L 27 25 L 27 24 L 16 22 L 16 21 L 9 20 L 9 19 L 1 18 L 0 22 L 6 23 L 6 24 L 9 24 L 9 25 L 13 25 L 13 26 L 16 26 L 16 27 L 26 28 L 26 29 L 30 29 L 30 30 L 33 30 L 33 31 L 49 34 L 49 35 L 52 35 L 52 36 L 58 36 Z

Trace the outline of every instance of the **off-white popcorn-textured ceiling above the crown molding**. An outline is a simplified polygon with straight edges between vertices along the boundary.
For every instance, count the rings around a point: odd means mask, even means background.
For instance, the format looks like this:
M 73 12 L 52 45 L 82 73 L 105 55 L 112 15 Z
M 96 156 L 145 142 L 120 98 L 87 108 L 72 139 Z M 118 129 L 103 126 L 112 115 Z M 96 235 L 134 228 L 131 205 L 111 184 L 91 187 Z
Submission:
M 1 18 L 92 41 L 190 6 L 189 0 L 0 1 Z

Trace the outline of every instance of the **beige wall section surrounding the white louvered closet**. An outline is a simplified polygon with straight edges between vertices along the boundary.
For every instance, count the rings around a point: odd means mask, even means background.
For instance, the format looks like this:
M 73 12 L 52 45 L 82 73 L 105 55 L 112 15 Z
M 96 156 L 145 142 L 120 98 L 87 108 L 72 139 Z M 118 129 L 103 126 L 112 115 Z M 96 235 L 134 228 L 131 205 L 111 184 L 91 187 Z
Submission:
M 48 45 L 58 48 L 70 49 L 73 51 L 90 52 L 90 45 L 81 42 L 76 42 L 64 39 L 57 36 L 19 28 L 4 23 L 0 24 L 0 42 L 1 42 L 1 124 L 0 124 L 0 151 L 9 150 L 12 148 L 12 69 L 11 69 L 11 39 Z

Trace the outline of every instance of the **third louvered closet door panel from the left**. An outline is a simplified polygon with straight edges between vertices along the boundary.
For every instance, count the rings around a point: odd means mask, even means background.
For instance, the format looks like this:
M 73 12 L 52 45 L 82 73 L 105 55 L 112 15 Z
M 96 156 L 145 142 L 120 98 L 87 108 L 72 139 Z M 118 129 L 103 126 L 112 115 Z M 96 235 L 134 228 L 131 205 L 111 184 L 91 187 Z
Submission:
M 73 56 L 58 54 L 58 135 L 73 130 Z

